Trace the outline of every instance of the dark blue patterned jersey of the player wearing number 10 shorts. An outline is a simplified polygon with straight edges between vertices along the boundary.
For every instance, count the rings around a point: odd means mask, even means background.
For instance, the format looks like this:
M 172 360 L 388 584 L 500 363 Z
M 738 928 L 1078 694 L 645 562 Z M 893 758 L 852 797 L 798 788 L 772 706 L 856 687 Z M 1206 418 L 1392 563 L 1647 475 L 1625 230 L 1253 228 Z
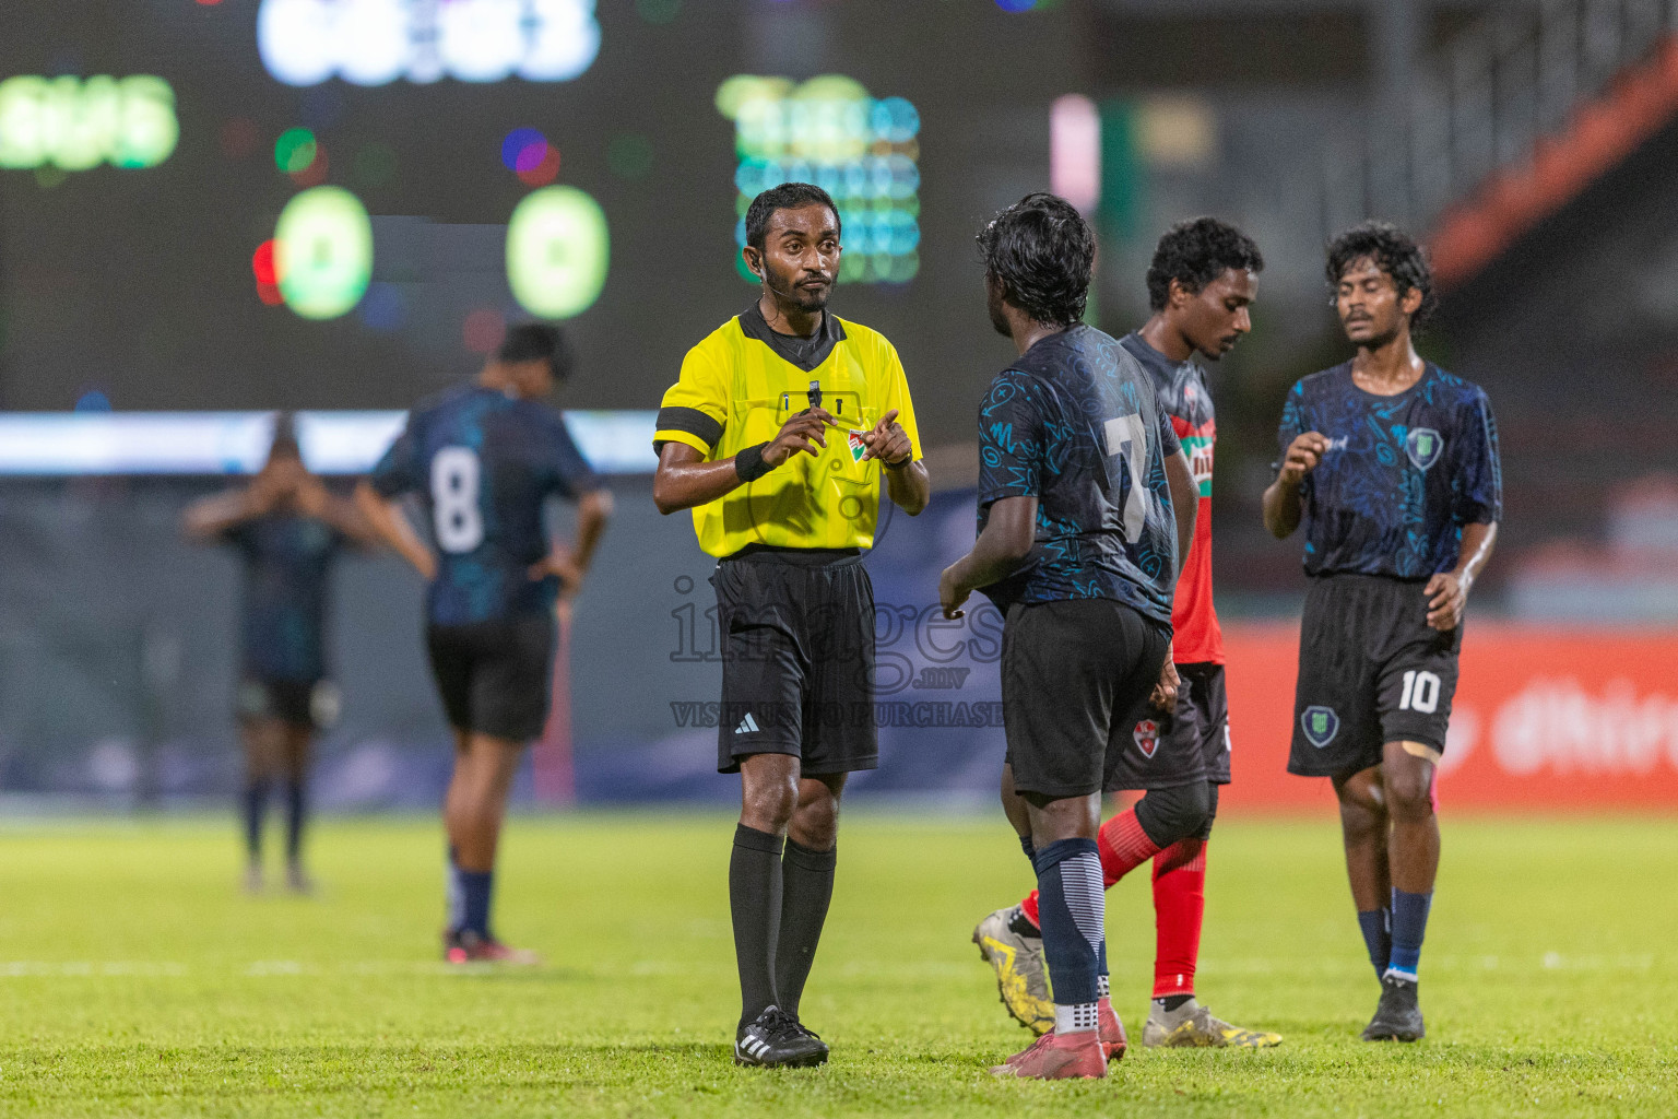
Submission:
M 1300 488 L 1305 574 L 1426 579 L 1457 567 L 1463 525 L 1503 515 L 1492 404 L 1433 362 L 1396 396 L 1358 388 L 1351 362 L 1304 377 L 1282 408 L 1284 458 L 1305 431 L 1329 441 Z

